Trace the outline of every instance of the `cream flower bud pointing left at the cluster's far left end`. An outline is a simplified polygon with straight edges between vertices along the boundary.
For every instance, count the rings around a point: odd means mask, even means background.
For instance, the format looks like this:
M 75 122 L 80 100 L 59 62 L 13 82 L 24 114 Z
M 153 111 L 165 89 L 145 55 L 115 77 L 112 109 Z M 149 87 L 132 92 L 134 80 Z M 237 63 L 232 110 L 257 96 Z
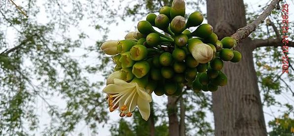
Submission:
M 100 48 L 105 54 L 116 55 L 118 54 L 116 49 L 117 44 L 118 44 L 117 40 L 109 40 L 104 42 Z

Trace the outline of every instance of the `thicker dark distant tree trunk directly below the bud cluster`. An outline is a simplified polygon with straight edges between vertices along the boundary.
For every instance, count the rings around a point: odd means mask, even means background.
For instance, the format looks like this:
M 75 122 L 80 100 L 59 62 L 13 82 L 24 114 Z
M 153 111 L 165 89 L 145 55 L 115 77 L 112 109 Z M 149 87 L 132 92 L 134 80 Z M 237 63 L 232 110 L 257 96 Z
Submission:
M 177 97 L 168 97 L 167 111 L 169 119 L 169 136 L 179 136 L 179 120 L 177 115 Z

